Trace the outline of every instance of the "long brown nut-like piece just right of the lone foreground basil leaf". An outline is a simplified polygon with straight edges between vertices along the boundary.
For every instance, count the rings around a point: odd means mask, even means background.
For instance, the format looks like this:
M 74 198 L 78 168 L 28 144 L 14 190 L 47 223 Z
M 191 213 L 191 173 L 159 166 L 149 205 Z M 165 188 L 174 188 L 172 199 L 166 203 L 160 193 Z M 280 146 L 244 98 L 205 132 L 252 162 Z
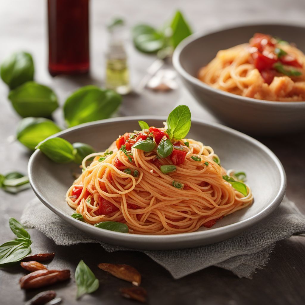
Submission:
M 135 286 L 139 286 L 141 284 L 141 274 L 134 267 L 125 264 L 119 265 L 107 263 L 101 263 L 97 266 L 102 270 L 116 276 L 117 278 L 131 282 Z

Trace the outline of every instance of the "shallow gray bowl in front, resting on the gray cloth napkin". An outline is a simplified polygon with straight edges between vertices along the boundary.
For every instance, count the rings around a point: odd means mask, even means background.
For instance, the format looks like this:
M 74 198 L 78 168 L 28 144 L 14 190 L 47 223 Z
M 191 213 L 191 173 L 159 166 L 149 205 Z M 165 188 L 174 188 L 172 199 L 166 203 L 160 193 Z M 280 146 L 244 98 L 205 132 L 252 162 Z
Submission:
M 165 117 L 125 117 L 73 127 L 52 136 L 72 142 L 85 142 L 97 151 L 104 151 L 118 135 L 138 128 L 138 120 L 149 126 L 162 126 Z M 244 170 L 254 196 L 253 205 L 237 211 L 213 228 L 174 235 L 134 235 L 104 230 L 71 217 L 74 210 L 65 202 L 67 189 L 73 183 L 73 172 L 80 172 L 75 163 L 58 164 L 40 150 L 30 157 L 28 175 L 36 196 L 54 213 L 95 239 L 135 249 L 179 249 L 219 242 L 238 235 L 261 221 L 282 201 L 286 177 L 282 164 L 266 146 L 231 128 L 219 124 L 192 121 L 189 138 L 213 147 L 221 164 L 229 169 Z

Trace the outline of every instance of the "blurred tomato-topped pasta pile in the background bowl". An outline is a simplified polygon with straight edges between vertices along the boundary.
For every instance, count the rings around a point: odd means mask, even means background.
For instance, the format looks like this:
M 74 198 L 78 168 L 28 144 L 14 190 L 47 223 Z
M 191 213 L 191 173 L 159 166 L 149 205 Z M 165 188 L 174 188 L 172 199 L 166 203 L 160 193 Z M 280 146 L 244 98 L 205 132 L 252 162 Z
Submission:
M 305 55 L 288 42 L 257 33 L 221 50 L 199 79 L 234 94 L 268 101 L 305 101 Z

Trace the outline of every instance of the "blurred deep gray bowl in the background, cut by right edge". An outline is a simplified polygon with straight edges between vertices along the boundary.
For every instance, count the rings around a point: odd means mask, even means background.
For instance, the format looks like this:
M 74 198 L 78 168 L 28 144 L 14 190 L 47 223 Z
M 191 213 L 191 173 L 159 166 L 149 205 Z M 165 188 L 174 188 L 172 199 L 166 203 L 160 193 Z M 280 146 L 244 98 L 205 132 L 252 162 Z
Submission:
M 272 102 L 247 98 L 210 87 L 196 78 L 221 49 L 249 41 L 254 33 L 266 33 L 296 43 L 305 51 L 305 27 L 246 25 L 211 34 L 195 34 L 175 49 L 173 64 L 197 101 L 227 126 L 255 135 L 275 135 L 305 128 L 305 102 Z

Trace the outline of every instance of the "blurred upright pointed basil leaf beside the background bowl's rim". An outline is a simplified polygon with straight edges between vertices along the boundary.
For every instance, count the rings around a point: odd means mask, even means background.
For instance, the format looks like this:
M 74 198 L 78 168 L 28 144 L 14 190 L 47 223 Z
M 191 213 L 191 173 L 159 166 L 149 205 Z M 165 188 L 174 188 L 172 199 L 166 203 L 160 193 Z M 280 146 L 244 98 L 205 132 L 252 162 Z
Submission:
M 180 11 L 177 11 L 170 23 L 172 29 L 171 44 L 174 48 L 186 37 L 192 34 L 188 23 Z

